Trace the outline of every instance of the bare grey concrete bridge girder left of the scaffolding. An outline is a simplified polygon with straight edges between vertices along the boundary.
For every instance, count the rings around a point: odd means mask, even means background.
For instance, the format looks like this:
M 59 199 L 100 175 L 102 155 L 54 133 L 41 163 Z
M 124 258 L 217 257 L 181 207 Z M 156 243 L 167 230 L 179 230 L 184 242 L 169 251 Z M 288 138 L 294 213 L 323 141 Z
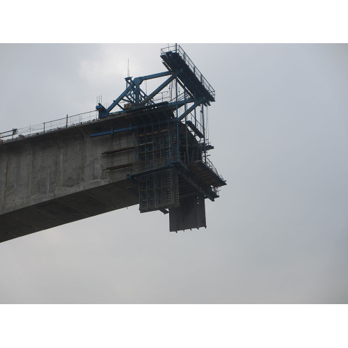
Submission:
M 131 132 L 111 118 L 0 143 L 0 242 L 139 203 L 127 180 Z M 102 155 L 118 148 L 130 150 Z

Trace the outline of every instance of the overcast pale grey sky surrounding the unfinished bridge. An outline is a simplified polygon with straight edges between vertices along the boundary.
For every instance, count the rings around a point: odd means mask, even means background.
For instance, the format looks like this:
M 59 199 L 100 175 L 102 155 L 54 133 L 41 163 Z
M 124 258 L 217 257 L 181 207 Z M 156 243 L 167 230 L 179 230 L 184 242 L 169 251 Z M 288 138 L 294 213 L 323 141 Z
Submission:
M 0 45 L 1 131 L 164 71 L 152 45 Z M 0 303 L 347 303 L 348 45 L 182 44 L 216 90 L 207 228 L 137 206 L 0 244 Z

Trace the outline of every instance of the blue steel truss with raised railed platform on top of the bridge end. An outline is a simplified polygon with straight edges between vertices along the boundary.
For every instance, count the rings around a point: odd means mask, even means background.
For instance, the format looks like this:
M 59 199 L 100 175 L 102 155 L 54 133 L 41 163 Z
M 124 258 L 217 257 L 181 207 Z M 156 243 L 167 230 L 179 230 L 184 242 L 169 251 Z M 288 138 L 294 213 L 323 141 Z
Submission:
M 206 139 L 207 125 L 203 106 L 209 106 L 211 102 L 215 101 L 215 90 L 180 45 L 175 44 L 161 49 L 161 58 L 167 71 L 142 77 L 126 77 L 126 89 L 116 100 L 113 100 L 109 107 L 97 104 L 98 117 L 107 118 L 120 113 L 132 113 L 146 109 L 173 108 L 175 109 L 175 121 L 185 122 L 193 134 L 200 139 L 206 159 L 206 150 L 209 149 L 209 145 Z M 167 77 L 167 79 L 151 93 L 147 94 L 141 88 L 144 81 L 161 77 Z M 163 101 L 162 98 L 161 102 L 157 102 L 161 100 L 159 94 L 163 93 L 162 90 L 165 88 L 171 89 L 171 98 L 166 101 Z M 116 106 L 120 109 L 119 111 L 113 111 Z M 200 107 L 200 111 L 197 113 L 198 107 Z M 122 132 L 123 130 L 112 129 L 110 132 Z M 91 136 L 104 134 L 109 134 L 109 132 L 100 132 Z

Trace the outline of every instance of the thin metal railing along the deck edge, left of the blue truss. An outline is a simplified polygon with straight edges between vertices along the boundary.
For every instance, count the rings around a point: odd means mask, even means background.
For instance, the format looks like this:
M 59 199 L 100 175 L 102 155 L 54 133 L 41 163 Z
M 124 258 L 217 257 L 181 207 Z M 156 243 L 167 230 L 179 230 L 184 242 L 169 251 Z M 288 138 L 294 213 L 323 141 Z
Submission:
M 90 122 L 96 120 L 97 118 L 97 111 L 88 111 L 72 116 L 67 115 L 65 118 L 58 118 L 57 120 L 38 123 L 38 125 L 30 125 L 29 127 L 19 129 L 14 128 L 10 131 L 0 132 L 0 142 L 10 139 L 24 138 L 25 136 L 46 133 L 52 130 L 68 128 L 75 125 L 81 125 L 82 123 Z

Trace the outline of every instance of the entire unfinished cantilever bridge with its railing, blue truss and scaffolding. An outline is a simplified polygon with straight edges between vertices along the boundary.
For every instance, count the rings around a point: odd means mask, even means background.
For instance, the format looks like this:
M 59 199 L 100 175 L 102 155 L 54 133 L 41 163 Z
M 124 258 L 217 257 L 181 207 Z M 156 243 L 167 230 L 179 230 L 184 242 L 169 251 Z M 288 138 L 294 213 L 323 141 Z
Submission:
M 161 59 L 108 107 L 0 133 L 0 242 L 136 204 L 169 213 L 171 231 L 206 227 L 226 185 L 207 155 L 215 91 L 179 45 Z

